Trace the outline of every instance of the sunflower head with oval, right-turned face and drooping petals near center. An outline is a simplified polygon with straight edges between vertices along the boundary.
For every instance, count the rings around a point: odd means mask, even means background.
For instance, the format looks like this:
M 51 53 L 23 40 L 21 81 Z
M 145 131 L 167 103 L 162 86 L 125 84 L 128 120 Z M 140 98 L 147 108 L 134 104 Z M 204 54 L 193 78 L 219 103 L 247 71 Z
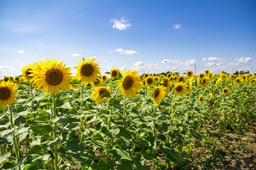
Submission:
M 135 70 L 124 70 L 122 73 L 122 80 L 120 81 L 121 92 L 125 97 L 133 98 L 136 92 L 141 89 L 140 75 Z

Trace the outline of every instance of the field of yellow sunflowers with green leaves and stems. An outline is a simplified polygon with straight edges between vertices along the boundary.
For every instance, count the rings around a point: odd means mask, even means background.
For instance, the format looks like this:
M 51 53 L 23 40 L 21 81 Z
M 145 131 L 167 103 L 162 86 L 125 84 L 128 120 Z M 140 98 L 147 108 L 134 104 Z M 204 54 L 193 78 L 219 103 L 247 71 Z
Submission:
M 1 80 L 0 169 L 210 168 L 216 134 L 255 120 L 255 74 L 74 69 L 46 59 Z

